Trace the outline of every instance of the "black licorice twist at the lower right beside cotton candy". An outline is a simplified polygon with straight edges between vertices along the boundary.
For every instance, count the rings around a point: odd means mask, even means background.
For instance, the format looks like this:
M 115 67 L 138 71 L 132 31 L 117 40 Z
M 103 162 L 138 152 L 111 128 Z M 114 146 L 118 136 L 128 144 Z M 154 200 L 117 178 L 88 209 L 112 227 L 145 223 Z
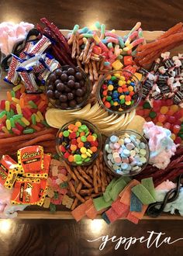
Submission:
M 147 209 L 147 215 L 151 217 L 157 217 L 161 215 L 161 213 L 164 211 L 165 206 L 169 202 L 174 202 L 174 200 L 178 199 L 178 195 L 181 189 L 181 177 L 183 174 L 179 175 L 178 181 L 177 181 L 177 187 L 176 189 L 171 189 L 164 197 L 164 201 L 162 202 L 154 202 L 148 206 Z M 159 209 L 156 208 L 156 206 L 161 206 Z

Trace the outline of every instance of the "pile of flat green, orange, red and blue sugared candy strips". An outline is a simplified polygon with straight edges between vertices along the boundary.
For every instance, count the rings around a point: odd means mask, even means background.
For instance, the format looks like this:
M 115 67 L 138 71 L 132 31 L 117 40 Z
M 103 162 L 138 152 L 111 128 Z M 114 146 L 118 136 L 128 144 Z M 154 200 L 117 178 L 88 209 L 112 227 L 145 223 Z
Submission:
M 119 218 L 138 223 L 143 218 L 148 204 L 155 202 L 154 195 L 152 178 L 143 179 L 141 183 L 128 177 L 113 178 L 102 196 L 89 199 L 71 213 L 77 221 L 84 216 L 94 219 L 98 213 L 102 213 L 106 223 L 113 223 Z

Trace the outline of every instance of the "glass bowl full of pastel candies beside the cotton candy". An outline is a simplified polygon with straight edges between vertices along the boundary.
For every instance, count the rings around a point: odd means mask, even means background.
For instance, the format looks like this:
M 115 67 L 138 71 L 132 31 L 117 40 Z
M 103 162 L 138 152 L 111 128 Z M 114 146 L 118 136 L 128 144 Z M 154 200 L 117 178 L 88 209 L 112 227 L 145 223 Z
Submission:
M 112 145 L 114 145 L 114 144 L 112 144 L 112 141 L 111 141 L 112 136 L 114 136 L 113 139 L 115 139 L 115 137 L 119 137 L 119 139 L 122 139 L 119 142 L 120 142 L 121 145 L 124 145 L 126 147 L 126 145 L 123 144 L 123 140 L 126 137 L 125 136 L 126 134 L 129 135 L 129 140 L 131 140 L 131 142 L 128 142 L 128 144 L 133 144 L 134 143 L 134 137 L 136 137 L 136 139 L 140 140 L 140 141 L 137 141 L 136 145 L 135 144 L 131 145 L 131 147 L 133 147 L 135 145 L 135 147 L 132 148 L 131 150 L 130 150 L 130 147 L 128 145 L 129 156 L 133 155 L 133 158 L 130 158 L 130 159 L 129 159 L 128 156 L 124 156 L 124 154 L 126 153 L 126 151 L 124 152 L 124 150 L 126 148 L 124 148 L 123 146 L 120 147 L 119 149 L 113 149 L 113 150 L 111 149 Z M 113 140 L 113 141 L 115 141 L 115 140 Z M 143 144 L 140 144 L 140 143 L 143 143 Z M 112 145 L 110 145 L 110 144 L 112 144 Z M 141 147 L 138 144 L 140 144 Z M 119 147 L 119 145 L 116 145 L 116 148 L 117 148 L 117 146 Z M 140 153 L 138 153 L 138 150 L 140 151 L 141 149 L 146 150 L 146 153 L 145 153 L 145 151 L 141 151 L 141 152 L 143 152 L 143 157 L 146 158 L 146 162 L 144 162 L 144 158 L 143 158 L 144 163 L 142 162 L 140 164 L 140 161 L 137 161 L 136 160 L 137 158 L 134 159 L 134 157 L 137 157 L 138 155 L 140 155 Z M 106 150 L 108 150 L 108 152 Z M 114 150 L 116 150 L 116 151 L 114 151 Z M 131 152 L 131 151 L 133 151 L 133 152 Z M 134 151 L 135 152 L 137 151 L 137 152 L 134 153 Z M 118 161 L 117 161 L 117 158 L 116 158 L 116 161 L 114 160 L 114 154 L 119 154 Z M 148 164 L 148 161 L 149 161 L 149 158 L 150 158 L 150 149 L 149 149 L 147 140 L 140 133 L 136 133 L 133 130 L 124 130 L 124 131 L 119 131 L 119 132 L 116 132 L 116 133 L 112 133 L 112 135 L 105 140 L 103 155 L 104 155 L 105 164 L 107 165 L 109 170 L 112 171 L 113 175 L 116 175 L 116 176 L 133 176 L 133 175 L 139 174 L 141 171 L 143 171 L 144 168 L 146 168 L 146 166 Z M 118 155 L 117 155 L 117 157 L 118 157 Z M 142 157 L 142 155 L 140 157 Z M 121 161 L 120 161 L 120 158 L 121 158 Z M 128 158 L 128 160 L 126 158 Z M 129 161 L 129 163 L 128 163 L 128 161 Z M 118 163 L 116 163 L 116 162 L 118 162 Z M 133 162 L 133 164 L 132 164 L 132 162 Z M 122 168 L 123 163 L 128 164 L 128 167 L 130 166 L 130 168 L 134 168 L 135 166 L 137 166 L 137 164 L 135 164 L 136 162 L 141 165 L 141 166 L 138 166 L 138 168 L 136 168 L 136 170 L 127 171 L 127 170 L 124 170 Z M 124 164 L 123 164 L 123 166 L 124 166 Z

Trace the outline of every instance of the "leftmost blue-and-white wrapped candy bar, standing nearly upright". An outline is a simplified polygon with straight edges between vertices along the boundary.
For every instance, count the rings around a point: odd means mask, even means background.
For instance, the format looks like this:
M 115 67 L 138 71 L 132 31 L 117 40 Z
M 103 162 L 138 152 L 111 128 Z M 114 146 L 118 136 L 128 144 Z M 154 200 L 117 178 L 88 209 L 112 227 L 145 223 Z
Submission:
M 12 61 L 9 65 L 9 72 L 7 76 L 4 78 L 5 81 L 16 85 L 19 81 L 19 73 L 16 69 L 19 67 L 19 64 L 22 63 L 22 59 L 17 57 L 16 55 L 12 54 Z

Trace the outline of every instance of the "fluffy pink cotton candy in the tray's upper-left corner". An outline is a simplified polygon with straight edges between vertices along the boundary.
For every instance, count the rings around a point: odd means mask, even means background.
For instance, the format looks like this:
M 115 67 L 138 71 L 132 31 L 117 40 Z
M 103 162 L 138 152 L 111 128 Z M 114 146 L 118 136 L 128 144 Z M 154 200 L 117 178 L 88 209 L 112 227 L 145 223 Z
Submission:
M 28 22 L 20 22 L 19 24 L 2 22 L 0 24 L 0 48 L 2 53 L 5 55 L 11 54 L 14 44 L 25 39 L 26 34 L 33 27 L 33 24 Z

